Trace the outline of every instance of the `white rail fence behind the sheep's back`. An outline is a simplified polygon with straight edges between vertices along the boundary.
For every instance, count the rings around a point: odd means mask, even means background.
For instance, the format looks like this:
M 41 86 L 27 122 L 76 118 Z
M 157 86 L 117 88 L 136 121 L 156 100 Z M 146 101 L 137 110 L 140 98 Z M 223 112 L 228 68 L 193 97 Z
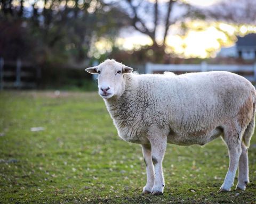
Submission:
M 226 65 L 226 64 L 146 64 L 146 74 L 156 72 L 206 72 L 206 71 L 228 71 L 239 72 L 249 81 L 256 82 L 256 63 L 251 65 Z

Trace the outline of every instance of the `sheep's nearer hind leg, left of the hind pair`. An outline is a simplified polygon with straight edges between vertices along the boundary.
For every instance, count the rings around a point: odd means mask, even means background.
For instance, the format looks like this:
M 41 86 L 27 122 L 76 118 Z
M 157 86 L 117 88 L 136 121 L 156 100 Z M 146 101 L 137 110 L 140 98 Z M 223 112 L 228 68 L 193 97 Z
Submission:
M 224 131 L 225 135 L 223 139 L 225 140 L 228 151 L 229 151 L 229 167 L 228 172 L 226 174 L 224 183 L 221 185 L 220 190 L 222 191 L 230 191 L 231 187 L 233 186 L 238 163 L 239 157 L 241 155 L 241 130 L 237 130 L 234 127 L 235 125 L 231 125 L 227 127 Z

